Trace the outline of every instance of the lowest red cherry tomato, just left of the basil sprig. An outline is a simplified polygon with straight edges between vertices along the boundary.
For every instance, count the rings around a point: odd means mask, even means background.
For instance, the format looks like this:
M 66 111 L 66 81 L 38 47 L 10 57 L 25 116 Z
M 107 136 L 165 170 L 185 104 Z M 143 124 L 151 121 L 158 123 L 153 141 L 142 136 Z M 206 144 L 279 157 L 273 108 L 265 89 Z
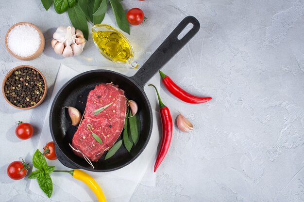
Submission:
M 14 161 L 7 167 L 7 175 L 13 180 L 20 180 L 24 178 L 29 169 L 29 164 L 26 164 L 23 159 L 21 161 Z

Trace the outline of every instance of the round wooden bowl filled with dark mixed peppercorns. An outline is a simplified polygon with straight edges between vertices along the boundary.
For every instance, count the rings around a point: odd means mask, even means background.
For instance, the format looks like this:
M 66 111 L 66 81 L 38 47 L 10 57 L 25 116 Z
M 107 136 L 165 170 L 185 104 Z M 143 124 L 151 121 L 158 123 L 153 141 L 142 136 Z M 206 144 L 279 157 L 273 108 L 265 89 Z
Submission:
M 20 65 L 7 73 L 2 83 L 5 100 L 17 109 L 32 109 L 47 95 L 48 86 L 41 72 L 30 65 Z

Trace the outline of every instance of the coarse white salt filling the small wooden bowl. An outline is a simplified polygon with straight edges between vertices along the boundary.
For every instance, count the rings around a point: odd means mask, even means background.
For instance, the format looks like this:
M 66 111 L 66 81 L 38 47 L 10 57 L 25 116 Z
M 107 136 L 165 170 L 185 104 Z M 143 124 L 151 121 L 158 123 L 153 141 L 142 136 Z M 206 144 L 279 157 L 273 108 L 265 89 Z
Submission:
M 17 56 L 33 55 L 41 44 L 39 32 L 30 25 L 17 25 L 7 35 L 7 46 Z

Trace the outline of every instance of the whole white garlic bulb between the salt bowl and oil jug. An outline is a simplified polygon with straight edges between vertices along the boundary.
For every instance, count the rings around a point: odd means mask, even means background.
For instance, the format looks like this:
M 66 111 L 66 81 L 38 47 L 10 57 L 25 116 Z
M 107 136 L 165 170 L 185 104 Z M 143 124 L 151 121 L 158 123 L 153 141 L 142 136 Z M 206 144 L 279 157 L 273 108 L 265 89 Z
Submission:
M 82 53 L 84 45 L 83 32 L 75 30 L 71 26 L 58 27 L 53 34 L 53 40 L 51 40 L 51 46 L 54 48 L 55 53 L 65 58 Z

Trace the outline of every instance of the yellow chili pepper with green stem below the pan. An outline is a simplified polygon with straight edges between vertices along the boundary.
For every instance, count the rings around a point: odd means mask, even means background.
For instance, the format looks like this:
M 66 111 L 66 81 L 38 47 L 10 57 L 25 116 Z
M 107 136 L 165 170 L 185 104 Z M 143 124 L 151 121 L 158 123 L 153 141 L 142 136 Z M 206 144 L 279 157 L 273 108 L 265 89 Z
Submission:
M 101 187 L 97 184 L 97 182 L 84 171 L 75 169 L 71 171 L 54 171 L 54 172 L 68 172 L 70 173 L 75 179 L 83 181 L 90 189 L 95 193 L 99 202 L 106 202 L 106 199 L 103 195 Z

